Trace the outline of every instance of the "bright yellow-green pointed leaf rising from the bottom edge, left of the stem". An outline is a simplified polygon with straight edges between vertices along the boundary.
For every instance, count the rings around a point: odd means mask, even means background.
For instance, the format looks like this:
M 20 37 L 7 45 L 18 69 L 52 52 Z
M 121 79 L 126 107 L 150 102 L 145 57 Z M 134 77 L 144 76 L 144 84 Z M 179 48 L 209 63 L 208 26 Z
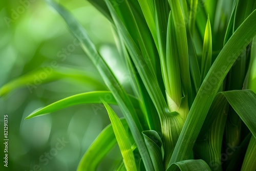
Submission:
M 112 127 L 116 136 L 117 143 L 119 145 L 122 157 L 123 157 L 123 163 L 125 165 L 126 170 L 137 170 L 135 158 L 133 155 L 133 151 L 129 142 L 129 138 L 124 130 L 124 127 L 116 115 L 116 113 L 110 108 L 109 104 L 106 103 L 104 100 L 102 100 L 102 103 L 104 104 L 106 110 L 108 111 Z

